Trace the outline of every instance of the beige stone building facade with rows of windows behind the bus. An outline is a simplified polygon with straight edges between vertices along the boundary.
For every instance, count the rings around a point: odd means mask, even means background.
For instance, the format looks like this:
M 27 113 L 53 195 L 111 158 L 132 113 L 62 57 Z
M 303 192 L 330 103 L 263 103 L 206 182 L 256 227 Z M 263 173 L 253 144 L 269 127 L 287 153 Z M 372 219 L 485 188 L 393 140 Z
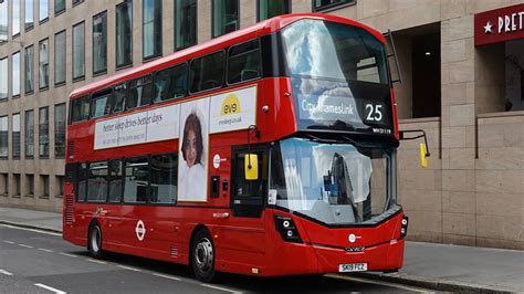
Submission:
M 0 204 L 61 211 L 74 88 L 312 11 L 391 31 L 400 128 L 431 151 L 421 169 L 416 141 L 399 149 L 408 238 L 524 249 L 521 0 L 0 0 Z

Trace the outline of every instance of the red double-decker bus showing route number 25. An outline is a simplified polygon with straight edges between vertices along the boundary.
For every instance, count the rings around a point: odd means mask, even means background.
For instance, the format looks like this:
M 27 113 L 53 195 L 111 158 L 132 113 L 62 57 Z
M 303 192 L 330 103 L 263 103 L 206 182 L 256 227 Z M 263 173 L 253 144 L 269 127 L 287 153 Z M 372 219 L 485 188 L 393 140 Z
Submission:
M 290 14 L 71 94 L 63 238 L 216 272 L 402 266 L 386 42 Z

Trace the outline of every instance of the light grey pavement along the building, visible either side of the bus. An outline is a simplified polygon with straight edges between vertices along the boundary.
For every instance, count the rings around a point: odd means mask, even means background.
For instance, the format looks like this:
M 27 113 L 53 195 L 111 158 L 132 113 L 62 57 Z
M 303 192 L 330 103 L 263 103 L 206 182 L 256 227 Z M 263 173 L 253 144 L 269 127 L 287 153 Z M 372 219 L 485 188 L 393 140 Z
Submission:
M 0 207 L 0 223 L 62 232 L 62 214 Z M 406 242 L 396 273 L 356 276 L 452 292 L 524 293 L 524 251 Z

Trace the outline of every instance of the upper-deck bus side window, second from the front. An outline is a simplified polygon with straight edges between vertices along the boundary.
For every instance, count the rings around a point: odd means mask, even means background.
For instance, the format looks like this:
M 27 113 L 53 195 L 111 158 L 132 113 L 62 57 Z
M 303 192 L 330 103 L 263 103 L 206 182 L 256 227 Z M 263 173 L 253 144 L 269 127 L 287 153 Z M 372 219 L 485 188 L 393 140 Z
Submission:
M 221 87 L 224 80 L 224 63 L 223 51 L 192 60 L 189 72 L 191 93 Z

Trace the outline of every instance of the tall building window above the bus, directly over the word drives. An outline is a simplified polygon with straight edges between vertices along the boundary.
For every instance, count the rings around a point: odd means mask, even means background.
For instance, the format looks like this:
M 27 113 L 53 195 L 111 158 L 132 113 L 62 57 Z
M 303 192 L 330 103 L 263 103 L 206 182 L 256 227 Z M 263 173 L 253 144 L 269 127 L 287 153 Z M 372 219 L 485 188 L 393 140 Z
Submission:
M 143 1 L 143 57 L 161 55 L 161 1 Z

